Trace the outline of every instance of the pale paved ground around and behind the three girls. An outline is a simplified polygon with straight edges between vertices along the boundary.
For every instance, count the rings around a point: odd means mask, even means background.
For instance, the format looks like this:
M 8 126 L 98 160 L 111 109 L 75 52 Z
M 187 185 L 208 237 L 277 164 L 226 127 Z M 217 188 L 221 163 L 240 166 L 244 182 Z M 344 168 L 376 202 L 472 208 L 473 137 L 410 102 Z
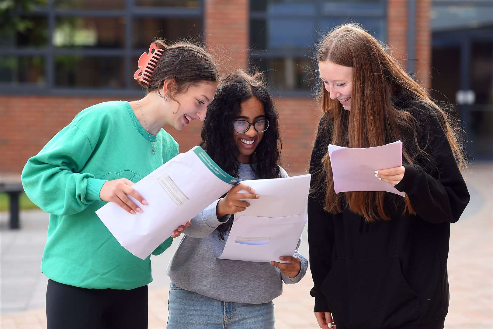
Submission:
M 450 310 L 445 328 L 493 328 L 493 164 L 471 165 L 464 176 L 471 202 L 452 225 L 449 254 Z M 46 241 L 47 214 L 21 213 L 22 229 L 7 229 L 0 213 L 0 328 L 46 328 L 44 297 L 47 279 L 39 270 Z M 308 255 L 306 228 L 300 252 Z M 165 274 L 178 241 L 152 258 L 149 285 L 149 328 L 166 328 L 169 278 Z M 310 273 L 284 286 L 274 300 L 277 328 L 318 328 L 313 315 Z

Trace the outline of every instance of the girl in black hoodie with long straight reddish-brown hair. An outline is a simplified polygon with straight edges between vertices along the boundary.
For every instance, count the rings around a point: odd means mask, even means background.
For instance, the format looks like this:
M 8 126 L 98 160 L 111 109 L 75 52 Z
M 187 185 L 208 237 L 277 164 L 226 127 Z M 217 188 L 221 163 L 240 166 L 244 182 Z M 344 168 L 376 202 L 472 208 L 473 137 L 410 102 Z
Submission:
M 308 201 L 310 267 L 320 328 L 443 328 L 450 223 L 469 202 L 457 123 L 354 24 L 318 49 L 323 84 Z M 401 140 L 403 165 L 374 168 L 387 192 L 334 192 L 327 145 Z M 364 159 L 361 159 L 364 162 Z

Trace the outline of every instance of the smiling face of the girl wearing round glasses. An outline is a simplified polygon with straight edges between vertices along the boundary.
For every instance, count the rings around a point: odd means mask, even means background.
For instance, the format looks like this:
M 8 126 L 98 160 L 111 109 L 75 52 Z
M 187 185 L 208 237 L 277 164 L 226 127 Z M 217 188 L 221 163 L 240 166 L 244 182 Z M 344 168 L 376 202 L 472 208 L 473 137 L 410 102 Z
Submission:
M 254 123 L 262 119 L 267 119 L 265 116 L 264 104 L 255 96 L 243 101 L 240 104 L 240 107 L 240 116 L 234 118 L 233 120 L 235 121 L 245 120 L 249 123 Z M 253 127 L 253 124 L 251 124 L 248 130 L 244 133 L 238 133 L 233 129 L 233 139 L 238 146 L 238 150 L 240 151 L 238 162 L 242 164 L 251 163 L 252 159 L 250 156 L 257 148 L 257 145 L 260 143 L 263 136 L 264 133 L 257 132 Z

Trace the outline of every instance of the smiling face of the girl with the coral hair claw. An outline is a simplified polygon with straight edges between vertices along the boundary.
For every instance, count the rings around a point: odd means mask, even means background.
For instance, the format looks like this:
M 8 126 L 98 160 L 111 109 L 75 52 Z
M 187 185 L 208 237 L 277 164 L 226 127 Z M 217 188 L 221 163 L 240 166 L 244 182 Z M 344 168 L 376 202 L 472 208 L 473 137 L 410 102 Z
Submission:
M 181 130 L 190 121 L 206 119 L 207 106 L 214 99 L 217 84 L 213 82 L 199 82 L 192 84 L 185 92 L 176 94 L 174 97 L 178 103 L 172 99 L 168 102 L 173 117 L 170 124 L 176 129 Z M 170 103 L 171 102 L 171 103 Z

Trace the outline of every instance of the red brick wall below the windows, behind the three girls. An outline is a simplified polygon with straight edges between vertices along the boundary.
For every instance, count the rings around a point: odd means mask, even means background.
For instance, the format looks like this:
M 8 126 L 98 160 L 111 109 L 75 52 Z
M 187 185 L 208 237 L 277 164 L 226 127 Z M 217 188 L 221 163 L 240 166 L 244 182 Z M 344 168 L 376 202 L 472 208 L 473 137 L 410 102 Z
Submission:
M 27 160 L 34 156 L 60 129 L 81 110 L 105 101 L 125 97 L 0 97 L 0 174 L 19 174 Z M 282 165 L 288 172 L 304 172 L 317 127 L 315 101 L 306 98 L 277 99 L 281 112 Z M 177 131 L 165 129 L 188 151 L 200 142 L 202 123 L 195 120 Z

